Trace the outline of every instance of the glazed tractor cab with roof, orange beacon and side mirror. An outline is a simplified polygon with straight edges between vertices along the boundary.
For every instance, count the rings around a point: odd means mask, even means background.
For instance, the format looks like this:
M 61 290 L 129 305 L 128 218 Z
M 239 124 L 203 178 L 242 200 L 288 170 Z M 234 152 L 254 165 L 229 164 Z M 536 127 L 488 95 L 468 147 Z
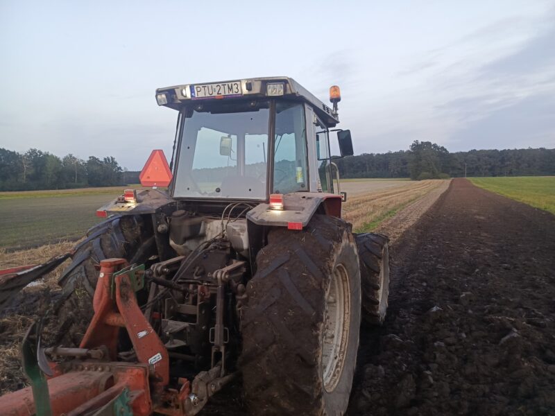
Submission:
M 267 201 L 271 194 L 334 193 L 330 131 L 352 155 L 330 108 L 287 77 L 160 88 L 158 105 L 178 110 L 173 198 Z M 339 173 L 336 172 L 339 185 Z

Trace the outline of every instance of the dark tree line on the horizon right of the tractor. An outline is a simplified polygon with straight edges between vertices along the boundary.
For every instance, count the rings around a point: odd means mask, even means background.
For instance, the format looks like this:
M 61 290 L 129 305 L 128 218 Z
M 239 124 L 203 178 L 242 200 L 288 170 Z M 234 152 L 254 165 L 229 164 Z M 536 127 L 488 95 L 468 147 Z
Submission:
M 409 150 L 363 153 L 334 161 L 341 177 L 410 177 L 413 180 L 465 176 L 555 175 L 555 149 L 470 150 L 450 153 L 429 141 Z

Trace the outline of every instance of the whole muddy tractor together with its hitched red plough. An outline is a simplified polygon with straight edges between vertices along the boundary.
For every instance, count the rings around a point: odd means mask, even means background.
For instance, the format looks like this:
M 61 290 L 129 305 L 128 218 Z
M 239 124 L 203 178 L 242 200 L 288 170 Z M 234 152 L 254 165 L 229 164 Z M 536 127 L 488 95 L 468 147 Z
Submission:
M 333 161 L 353 148 L 336 128 L 339 87 L 332 107 L 287 77 L 155 96 L 178 113 L 171 163 L 155 150 L 144 188 L 31 269 L 72 259 L 57 330 L 46 342 L 35 322 L 22 345 L 31 387 L 1 397 L 0 413 L 191 416 L 238 379 L 253 415 L 343 415 L 361 321 L 386 315 L 389 266 L 387 237 L 341 218 Z

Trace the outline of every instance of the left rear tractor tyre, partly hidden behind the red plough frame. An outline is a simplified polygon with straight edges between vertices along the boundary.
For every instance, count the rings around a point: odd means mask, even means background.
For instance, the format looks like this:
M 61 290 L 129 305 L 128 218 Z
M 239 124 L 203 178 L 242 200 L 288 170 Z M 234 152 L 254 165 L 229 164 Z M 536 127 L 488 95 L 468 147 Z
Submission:
M 51 320 L 56 320 L 47 342 L 51 345 L 76 346 L 92 318 L 92 297 L 99 278 L 100 261 L 123 258 L 135 263 L 153 254 L 153 236 L 141 216 L 114 216 L 95 225 L 85 240 L 78 243 L 71 264 L 62 272 L 58 284 L 62 296 L 56 302 Z

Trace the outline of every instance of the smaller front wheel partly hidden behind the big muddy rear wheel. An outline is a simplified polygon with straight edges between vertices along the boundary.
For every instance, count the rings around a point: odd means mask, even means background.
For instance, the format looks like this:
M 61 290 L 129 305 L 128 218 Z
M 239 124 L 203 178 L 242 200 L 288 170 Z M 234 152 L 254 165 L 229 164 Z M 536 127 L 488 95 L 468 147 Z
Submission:
M 383 234 L 357 234 L 362 318 L 372 325 L 384 323 L 389 295 L 389 245 Z

